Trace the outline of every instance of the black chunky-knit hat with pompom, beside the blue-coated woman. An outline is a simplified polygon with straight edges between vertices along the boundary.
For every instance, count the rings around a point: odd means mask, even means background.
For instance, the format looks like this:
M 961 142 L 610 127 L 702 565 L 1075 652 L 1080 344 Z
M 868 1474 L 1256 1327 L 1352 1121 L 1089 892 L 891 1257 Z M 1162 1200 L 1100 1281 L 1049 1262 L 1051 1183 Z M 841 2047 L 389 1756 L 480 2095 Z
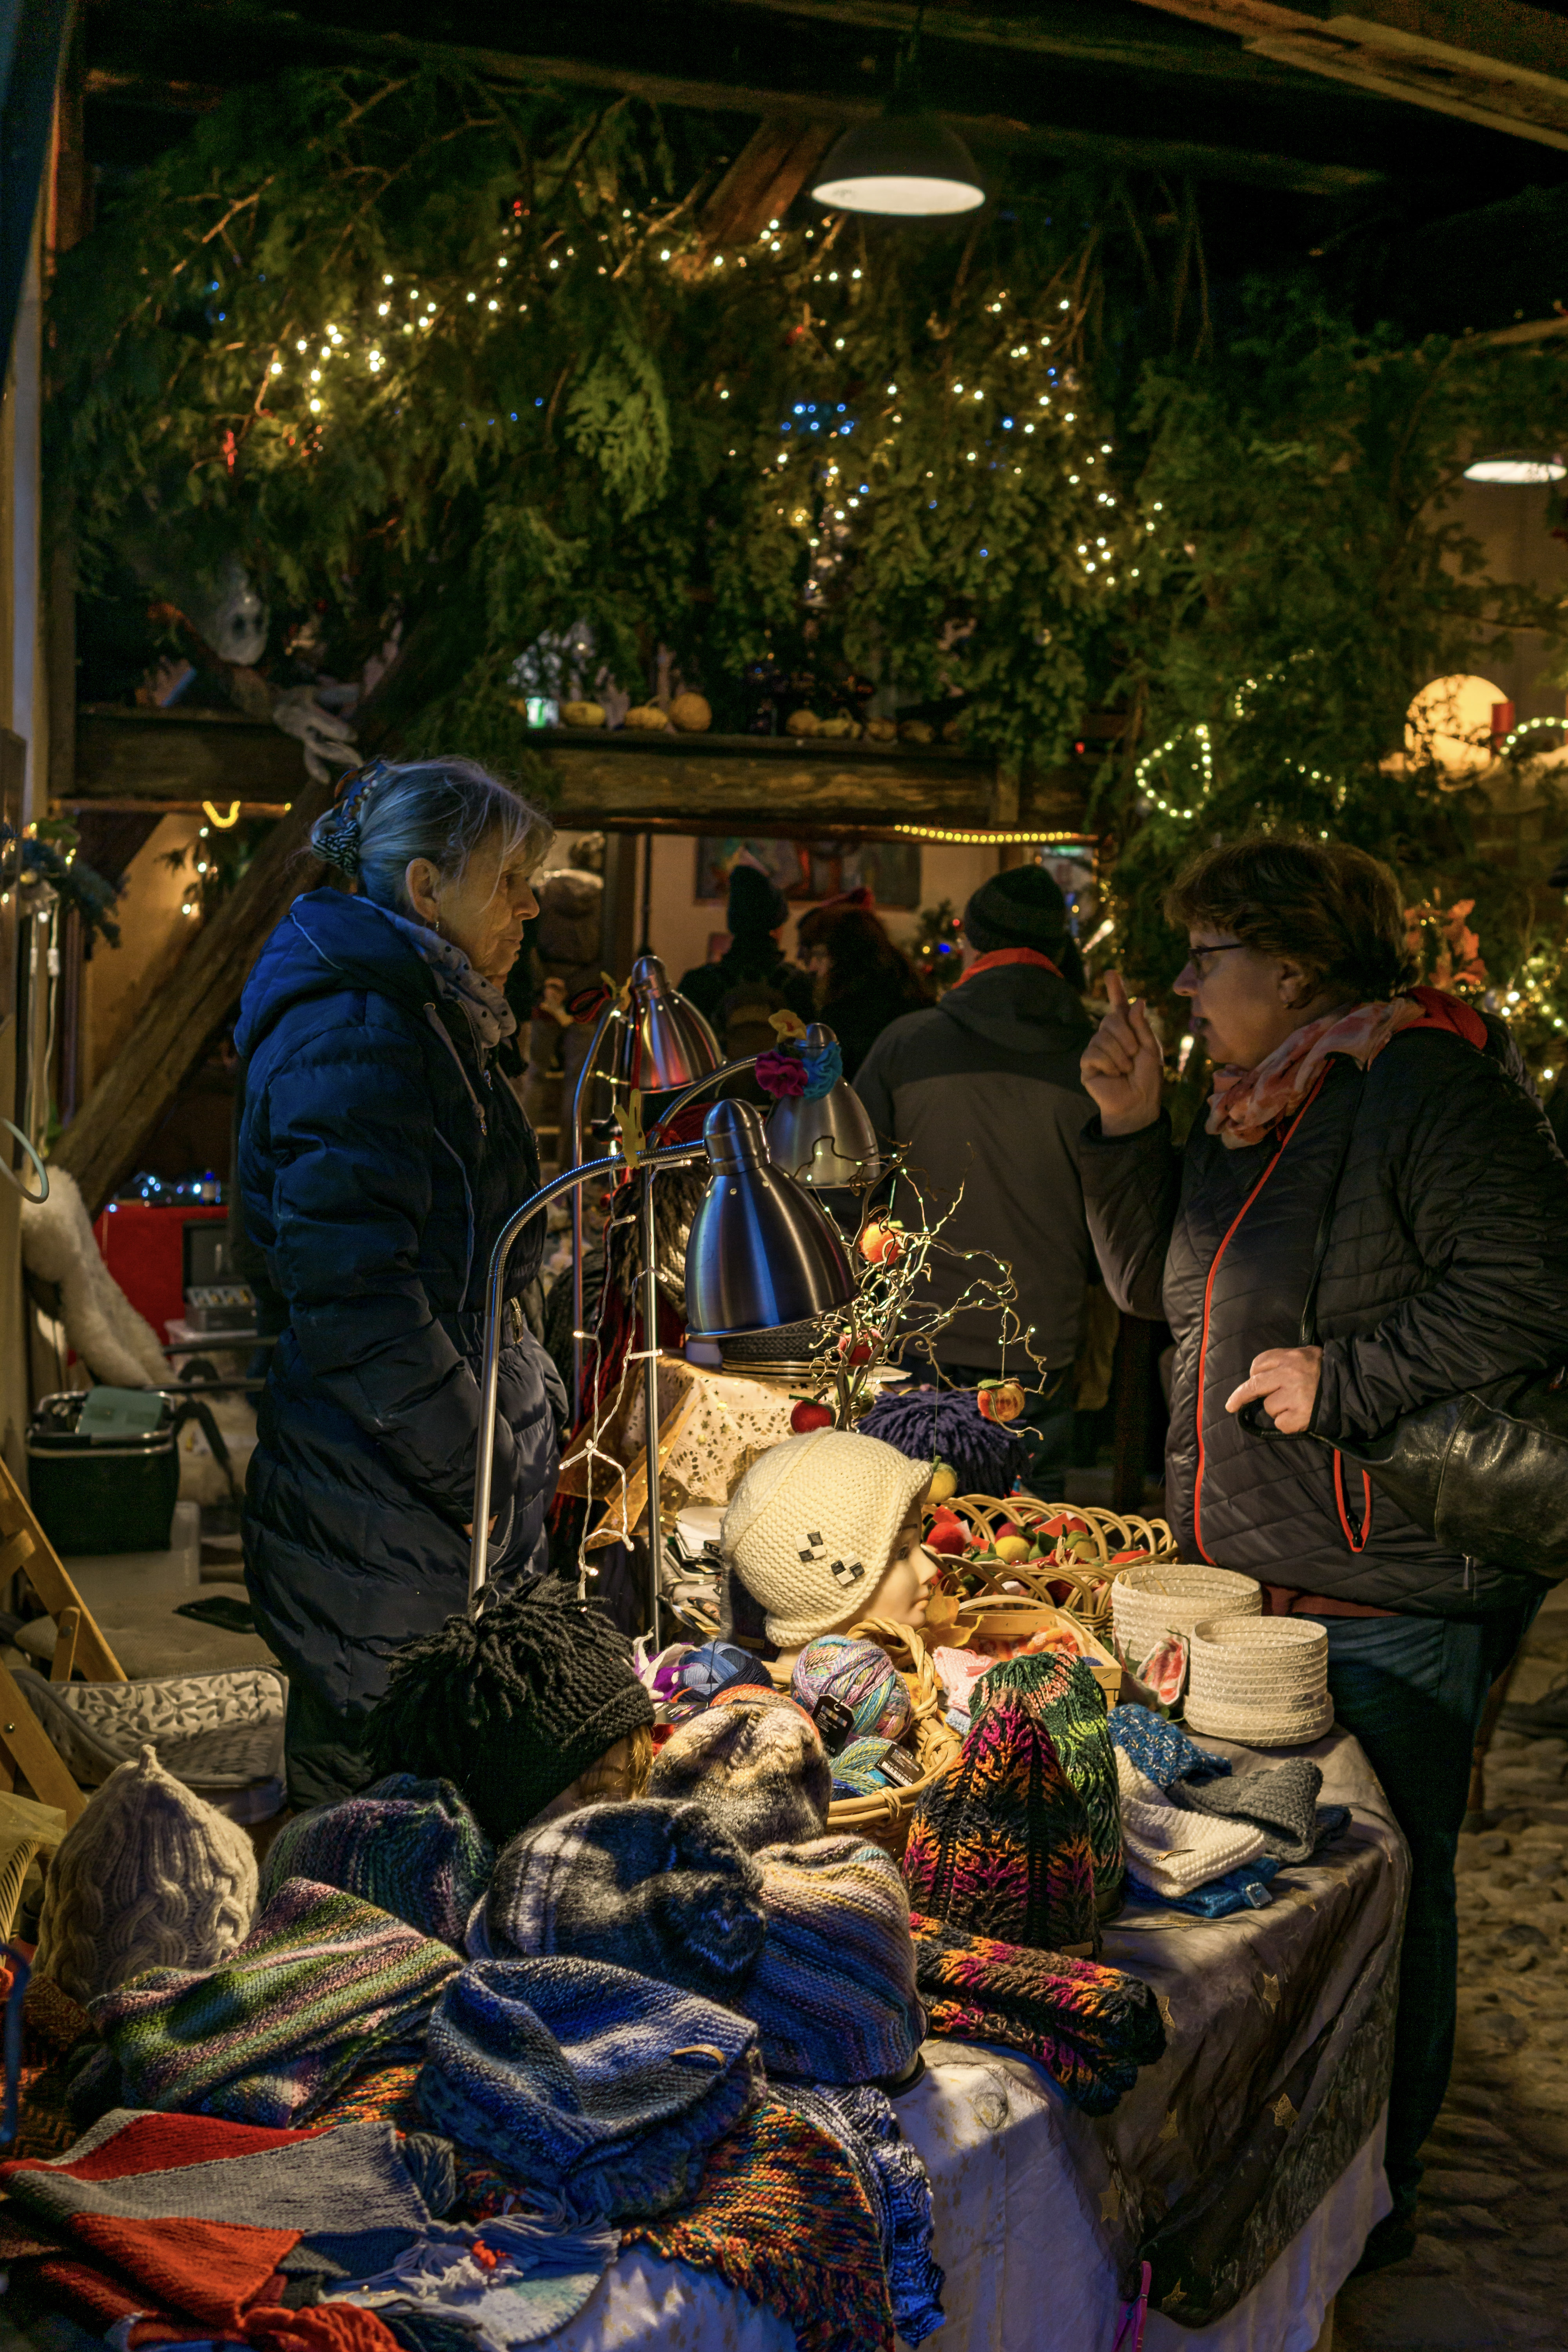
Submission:
M 524 1592 L 393 1658 L 364 1722 L 371 1771 L 451 1780 L 503 1846 L 590 1764 L 654 1722 L 632 1651 L 588 1602 Z

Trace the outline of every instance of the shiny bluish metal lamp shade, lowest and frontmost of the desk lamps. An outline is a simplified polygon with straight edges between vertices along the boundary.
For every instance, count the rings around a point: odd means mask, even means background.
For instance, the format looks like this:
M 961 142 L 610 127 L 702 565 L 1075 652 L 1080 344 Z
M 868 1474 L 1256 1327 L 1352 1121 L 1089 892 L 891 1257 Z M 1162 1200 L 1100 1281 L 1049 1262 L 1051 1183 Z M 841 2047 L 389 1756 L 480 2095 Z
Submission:
M 773 1331 L 849 1305 L 849 1251 L 820 1202 L 769 1162 L 762 1112 L 717 1103 L 703 1143 L 712 1174 L 686 1242 L 691 1336 Z

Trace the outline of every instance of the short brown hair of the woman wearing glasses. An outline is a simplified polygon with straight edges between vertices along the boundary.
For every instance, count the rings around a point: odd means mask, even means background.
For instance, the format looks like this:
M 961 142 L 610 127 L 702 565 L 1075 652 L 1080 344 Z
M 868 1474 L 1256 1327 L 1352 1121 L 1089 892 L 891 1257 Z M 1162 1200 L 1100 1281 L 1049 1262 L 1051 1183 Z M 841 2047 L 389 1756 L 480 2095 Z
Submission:
M 1316 988 L 1394 997 L 1415 978 L 1399 882 L 1345 842 L 1253 833 L 1204 849 L 1166 891 L 1166 920 L 1234 931 L 1258 955 L 1288 955 Z

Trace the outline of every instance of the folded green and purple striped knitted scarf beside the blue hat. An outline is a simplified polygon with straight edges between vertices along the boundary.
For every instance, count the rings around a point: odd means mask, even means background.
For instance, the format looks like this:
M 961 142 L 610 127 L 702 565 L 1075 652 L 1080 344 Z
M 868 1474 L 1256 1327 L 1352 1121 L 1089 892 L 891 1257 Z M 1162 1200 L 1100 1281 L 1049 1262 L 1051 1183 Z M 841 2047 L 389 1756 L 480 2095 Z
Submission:
M 134 2105 L 296 2124 L 367 2058 L 418 2042 L 456 1971 L 449 1945 L 289 1879 L 223 1966 L 148 1969 L 89 2016 Z

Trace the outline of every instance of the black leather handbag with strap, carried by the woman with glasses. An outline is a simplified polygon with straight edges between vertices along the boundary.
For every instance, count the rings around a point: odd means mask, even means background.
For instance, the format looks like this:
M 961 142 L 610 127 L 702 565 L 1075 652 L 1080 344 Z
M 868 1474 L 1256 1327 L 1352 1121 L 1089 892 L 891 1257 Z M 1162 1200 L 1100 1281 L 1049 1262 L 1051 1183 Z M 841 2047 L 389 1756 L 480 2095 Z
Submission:
M 1316 1289 L 1328 1225 L 1349 1157 L 1354 1117 L 1316 1228 L 1300 1343 L 1319 1348 Z M 1262 1404 L 1241 1409 L 1253 1437 L 1284 1439 Z M 1316 1430 L 1300 1435 L 1319 1437 Z M 1528 1569 L 1547 1583 L 1568 1576 L 1568 1378 L 1566 1367 L 1509 1371 L 1436 1404 L 1418 1404 L 1361 1444 L 1319 1437 L 1352 1470 L 1399 1503 L 1448 1552 Z

